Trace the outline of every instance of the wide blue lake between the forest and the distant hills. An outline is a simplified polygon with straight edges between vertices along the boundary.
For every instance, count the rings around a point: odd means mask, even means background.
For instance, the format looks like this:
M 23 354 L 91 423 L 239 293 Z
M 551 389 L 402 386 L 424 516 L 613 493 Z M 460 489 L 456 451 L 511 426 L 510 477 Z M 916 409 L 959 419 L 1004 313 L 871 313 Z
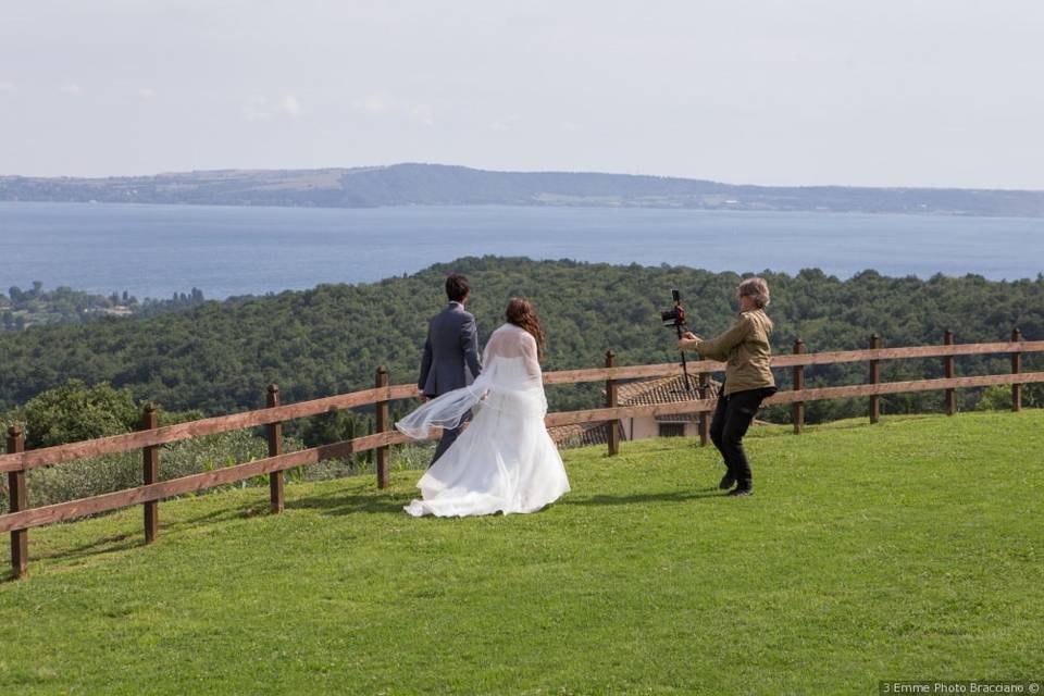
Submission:
M 372 282 L 463 256 L 819 268 L 840 277 L 1044 272 L 1044 220 L 815 212 L 0 202 L 0 287 L 209 298 Z

